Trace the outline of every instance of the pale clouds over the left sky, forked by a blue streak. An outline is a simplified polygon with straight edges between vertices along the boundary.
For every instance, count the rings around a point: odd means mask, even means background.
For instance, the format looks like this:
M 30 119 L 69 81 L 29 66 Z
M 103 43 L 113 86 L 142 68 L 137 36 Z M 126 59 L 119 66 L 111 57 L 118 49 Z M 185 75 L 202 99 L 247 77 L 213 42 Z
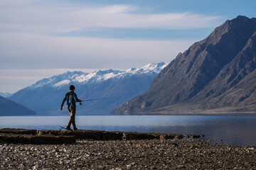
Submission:
M 0 0 L 0 88 L 14 92 L 66 70 L 128 69 L 150 62 L 171 62 L 193 43 L 61 33 L 105 28 L 213 28 L 219 20 L 218 16 L 190 12 L 142 13 L 142 8 L 57 0 Z

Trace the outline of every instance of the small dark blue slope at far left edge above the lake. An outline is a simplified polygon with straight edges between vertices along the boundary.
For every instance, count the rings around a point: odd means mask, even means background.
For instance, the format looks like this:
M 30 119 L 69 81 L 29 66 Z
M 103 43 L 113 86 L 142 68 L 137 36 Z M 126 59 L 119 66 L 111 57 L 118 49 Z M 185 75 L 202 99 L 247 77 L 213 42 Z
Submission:
M 36 115 L 36 112 L 0 96 L 0 115 Z

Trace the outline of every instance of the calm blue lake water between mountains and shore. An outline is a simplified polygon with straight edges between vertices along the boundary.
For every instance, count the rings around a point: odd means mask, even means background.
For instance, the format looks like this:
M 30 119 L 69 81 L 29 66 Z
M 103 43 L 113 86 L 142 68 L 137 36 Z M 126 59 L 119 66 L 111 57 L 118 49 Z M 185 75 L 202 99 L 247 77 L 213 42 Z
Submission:
M 0 128 L 59 130 L 68 116 L 0 117 Z M 77 116 L 79 129 L 206 135 L 213 143 L 256 146 L 256 115 Z

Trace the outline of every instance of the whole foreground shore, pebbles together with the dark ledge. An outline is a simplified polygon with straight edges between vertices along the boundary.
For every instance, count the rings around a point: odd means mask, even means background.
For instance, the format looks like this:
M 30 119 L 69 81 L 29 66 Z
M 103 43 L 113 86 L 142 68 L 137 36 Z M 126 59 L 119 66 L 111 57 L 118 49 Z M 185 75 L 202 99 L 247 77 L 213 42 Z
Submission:
M 203 135 L 0 129 L 0 169 L 256 169 L 256 147 L 198 137 Z

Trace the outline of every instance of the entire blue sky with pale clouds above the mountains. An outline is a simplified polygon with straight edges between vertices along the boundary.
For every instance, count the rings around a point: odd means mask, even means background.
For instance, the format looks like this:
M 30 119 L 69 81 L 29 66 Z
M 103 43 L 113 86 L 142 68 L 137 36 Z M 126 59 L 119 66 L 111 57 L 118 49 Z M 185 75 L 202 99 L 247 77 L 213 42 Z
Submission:
M 0 92 L 80 70 L 174 60 L 255 0 L 0 0 Z

